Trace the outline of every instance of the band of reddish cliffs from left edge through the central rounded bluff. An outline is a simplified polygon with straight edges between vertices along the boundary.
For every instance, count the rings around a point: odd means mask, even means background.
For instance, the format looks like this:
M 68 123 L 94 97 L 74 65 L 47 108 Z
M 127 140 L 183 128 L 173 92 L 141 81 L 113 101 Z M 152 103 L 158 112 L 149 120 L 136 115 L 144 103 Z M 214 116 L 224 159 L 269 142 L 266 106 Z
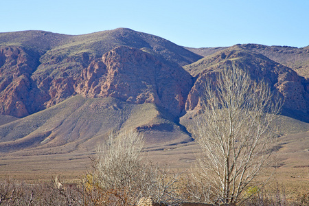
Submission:
M 42 78 L 36 71 L 38 57 L 33 58 L 22 47 L 2 47 L 0 64 L 0 114 L 16 117 L 49 108 L 79 93 L 88 98 L 118 98 L 130 104 L 154 103 L 179 116 L 193 85 L 192 76 L 178 65 L 165 64 L 152 54 L 126 46 L 93 60 L 80 69 L 79 75 L 63 71 L 54 78 Z

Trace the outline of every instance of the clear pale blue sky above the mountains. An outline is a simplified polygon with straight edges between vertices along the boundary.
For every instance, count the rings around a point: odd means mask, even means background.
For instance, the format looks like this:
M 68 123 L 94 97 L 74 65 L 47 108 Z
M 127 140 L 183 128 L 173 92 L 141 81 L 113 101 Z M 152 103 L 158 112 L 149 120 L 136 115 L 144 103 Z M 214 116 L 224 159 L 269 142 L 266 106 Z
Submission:
M 0 32 L 127 27 L 187 47 L 309 45 L 309 0 L 0 0 Z

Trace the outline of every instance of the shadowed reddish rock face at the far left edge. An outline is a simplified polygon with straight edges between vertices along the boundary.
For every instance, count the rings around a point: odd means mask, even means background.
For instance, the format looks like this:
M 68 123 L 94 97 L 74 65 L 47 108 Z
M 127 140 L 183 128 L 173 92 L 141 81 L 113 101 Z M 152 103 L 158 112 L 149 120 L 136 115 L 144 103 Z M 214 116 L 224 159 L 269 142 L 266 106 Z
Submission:
M 0 114 L 24 117 L 33 110 L 30 77 L 37 58 L 23 47 L 0 47 Z

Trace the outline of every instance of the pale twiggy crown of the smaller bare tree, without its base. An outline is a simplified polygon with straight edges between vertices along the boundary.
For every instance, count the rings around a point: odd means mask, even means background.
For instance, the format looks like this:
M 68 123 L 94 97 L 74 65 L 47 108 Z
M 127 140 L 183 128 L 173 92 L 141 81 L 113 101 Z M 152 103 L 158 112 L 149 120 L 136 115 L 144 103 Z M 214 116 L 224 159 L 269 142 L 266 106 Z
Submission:
M 143 136 L 137 132 L 110 133 L 98 144 L 96 165 L 101 187 L 126 187 L 137 175 L 143 161 Z

